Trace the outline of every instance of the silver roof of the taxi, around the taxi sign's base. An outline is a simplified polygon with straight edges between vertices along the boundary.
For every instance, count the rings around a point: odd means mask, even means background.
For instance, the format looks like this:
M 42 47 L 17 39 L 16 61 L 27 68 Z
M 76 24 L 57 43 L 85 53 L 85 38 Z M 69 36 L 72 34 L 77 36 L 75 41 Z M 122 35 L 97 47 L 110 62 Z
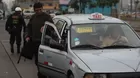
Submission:
M 66 14 L 57 15 L 54 18 L 63 19 L 68 25 L 85 23 L 124 23 L 124 21 L 110 16 L 104 16 L 105 19 L 103 20 L 90 20 L 90 15 L 91 14 Z

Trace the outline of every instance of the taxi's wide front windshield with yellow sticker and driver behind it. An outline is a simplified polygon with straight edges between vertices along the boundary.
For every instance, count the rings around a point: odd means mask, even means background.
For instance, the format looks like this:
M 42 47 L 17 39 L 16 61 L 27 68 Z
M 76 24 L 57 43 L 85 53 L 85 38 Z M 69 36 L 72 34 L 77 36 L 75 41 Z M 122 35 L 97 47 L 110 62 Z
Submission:
M 137 48 L 140 40 L 127 24 L 71 26 L 71 48 L 90 48 L 89 46 L 92 49 Z

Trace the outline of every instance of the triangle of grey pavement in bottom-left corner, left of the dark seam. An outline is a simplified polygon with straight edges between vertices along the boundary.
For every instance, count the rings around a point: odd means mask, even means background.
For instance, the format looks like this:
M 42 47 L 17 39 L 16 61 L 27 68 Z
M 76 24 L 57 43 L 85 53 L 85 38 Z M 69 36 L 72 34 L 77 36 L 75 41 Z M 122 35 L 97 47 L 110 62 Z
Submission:
M 0 78 L 21 78 L 0 42 Z

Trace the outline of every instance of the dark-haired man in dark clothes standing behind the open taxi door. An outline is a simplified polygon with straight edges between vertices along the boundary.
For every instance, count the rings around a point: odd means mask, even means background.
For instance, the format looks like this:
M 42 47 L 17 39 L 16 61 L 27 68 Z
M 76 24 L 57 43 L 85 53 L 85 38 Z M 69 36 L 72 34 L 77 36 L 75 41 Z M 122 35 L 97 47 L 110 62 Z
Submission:
M 27 25 L 27 34 L 26 41 L 31 41 L 33 46 L 31 46 L 34 50 L 35 55 L 35 64 L 38 68 L 38 48 L 41 43 L 42 30 L 45 21 L 53 23 L 53 20 L 49 14 L 43 12 L 43 4 L 40 2 L 36 2 L 33 6 L 35 14 L 29 20 Z M 45 78 L 40 72 L 38 72 L 38 78 Z

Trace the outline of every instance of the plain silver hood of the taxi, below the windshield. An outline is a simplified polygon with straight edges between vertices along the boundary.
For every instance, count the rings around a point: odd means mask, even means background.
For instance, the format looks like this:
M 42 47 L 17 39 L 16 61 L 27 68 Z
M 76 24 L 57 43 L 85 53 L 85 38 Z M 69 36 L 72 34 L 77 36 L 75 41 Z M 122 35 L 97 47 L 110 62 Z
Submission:
M 92 72 L 139 72 L 140 49 L 73 50 Z

